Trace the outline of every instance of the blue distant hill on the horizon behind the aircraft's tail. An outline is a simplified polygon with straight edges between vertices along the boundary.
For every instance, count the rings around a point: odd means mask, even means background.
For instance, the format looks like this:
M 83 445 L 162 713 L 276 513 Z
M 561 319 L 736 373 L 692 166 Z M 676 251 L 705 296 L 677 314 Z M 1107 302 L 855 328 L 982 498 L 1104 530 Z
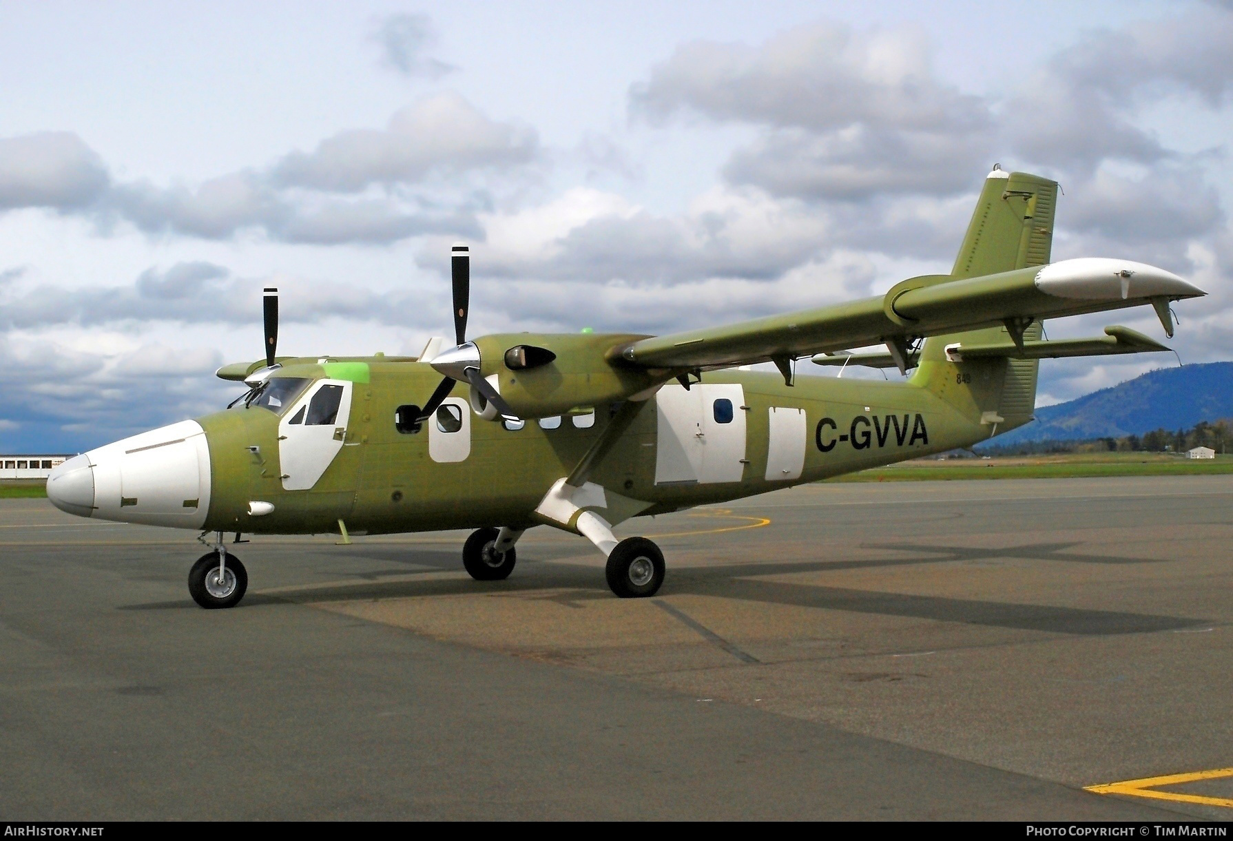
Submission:
M 1112 388 L 1036 411 L 1036 422 L 997 435 L 991 445 L 1142 435 L 1189 429 L 1233 417 L 1233 363 L 1148 371 Z

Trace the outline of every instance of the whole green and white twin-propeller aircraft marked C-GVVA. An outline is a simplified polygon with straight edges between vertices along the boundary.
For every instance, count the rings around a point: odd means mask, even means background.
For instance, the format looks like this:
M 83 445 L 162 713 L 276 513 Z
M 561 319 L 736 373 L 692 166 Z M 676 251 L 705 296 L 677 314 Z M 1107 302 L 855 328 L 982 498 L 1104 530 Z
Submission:
M 662 552 L 613 525 L 970 446 L 1032 419 L 1041 359 L 1168 350 L 1124 327 L 1042 338 L 1046 318 L 1143 305 L 1173 337 L 1170 303 L 1205 295 L 1142 263 L 1051 264 L 1057 191 L 995 166 L 951 274 L 672 335 L 467 342 L 465 245 L 453 254 L 455 347 L 434 339 L 419 358 L 275 356 L 266 290 L 265 359 L 218 370 L 243 397 L 65 461 L 47 496 L 80 517 L 215 533 L 189 572 L 203 608 L 233 607 L 248 586 L 224 531 L 476 529 L 462 565 L 493 581 L 526 529 L 551 525 L 608 557 L 616 596 L 652 596 Z M 848 350 L 870 345 L 885 350 Z M 915 374 L 797 379 L 803 356 Z M 779 374 L 737 370 L 766 361 Z

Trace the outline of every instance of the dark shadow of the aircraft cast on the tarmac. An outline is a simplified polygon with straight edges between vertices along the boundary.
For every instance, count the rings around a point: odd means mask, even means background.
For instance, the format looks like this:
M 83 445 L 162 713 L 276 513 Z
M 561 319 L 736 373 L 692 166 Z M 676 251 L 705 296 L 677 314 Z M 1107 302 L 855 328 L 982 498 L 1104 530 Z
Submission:
M 875 544 L 869 549 L 890 549 L 912 552 L 911 557 L 852 561 L 797 561 L 773 564 L 716 564 L 711 566 L 682 566 L 668 575 L 661 596 L 698 594 L 732 598 L 745 602 L 784 604 L 792 607 L 847 610 L 853 613 L 911 617 L 937 622 L 989 625 L 1020 630 L 1036 630 L 1075 635 L 1142 634 L 1178 630 L 1200 624 L 1202 619 L 1166 617 L 1116 610 L 1055 607 L 1047 604 L 1022 604 L 983 599 L 961 599 L 940 596 L 915 596 L 878 591 L 830 587 L 811 582 L 767 581 L 769 576 L 800 575 L 840 570 L 914 566 L 953 561 L 990 561 L 997 559 L 1027 559 L 1089 564 L 1149 564 L 1157 559 L 1118 557 L 1105 555 L 1078 555 L 1063 550 L 1074 543 L 1033 544 L 1007 549 L 973 549 L 967 546 L 935 546 L 907 544 Z M 525 593 L 536 592 L 546 601 L 570 607 L 596 599 L 613 598 L 604 587 L 597 568 L 551 560 L 525 559 L 519 561 L 519 571 L 506 581 L 476 582 L 465 578 L 424 578 L 418 576 L 455 571 L 457 555 L 443 550 L 406 550 L 364 548 L 353 552 L 351 560 L 369 559 L 399 567 L 349 572 L 354 583 L 333 583 L 282 588 L 276 592 L 250 593 L 239 605 L 259 607 L 269 604 L 374 601 L 408 597 L 467 596 L 476 593 Z M 413 567 L 413 568 L 407 568 Z M 563 592 L 561 592 L 563 591 Z M 123 605 L 122 610 L 197 609 L 187 599 Z

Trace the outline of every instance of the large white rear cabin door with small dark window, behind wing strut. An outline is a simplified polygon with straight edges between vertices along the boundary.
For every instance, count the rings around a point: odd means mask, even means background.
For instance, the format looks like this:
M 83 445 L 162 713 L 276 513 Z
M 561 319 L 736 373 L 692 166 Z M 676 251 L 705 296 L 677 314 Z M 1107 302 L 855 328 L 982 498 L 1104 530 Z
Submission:
M 663 386 L 655 483 L 739 482 L 745 471 L 745 390 L 735 384 Z

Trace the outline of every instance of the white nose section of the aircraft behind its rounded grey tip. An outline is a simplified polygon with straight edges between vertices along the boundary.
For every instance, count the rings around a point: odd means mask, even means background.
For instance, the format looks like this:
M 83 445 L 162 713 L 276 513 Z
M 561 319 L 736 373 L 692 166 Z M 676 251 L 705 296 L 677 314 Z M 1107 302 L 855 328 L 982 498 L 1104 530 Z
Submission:
M 85 457 L 94 476 L 92 517 L 181 529 L 205 523 L 210 446 L 196 420 L 152 429 L 90 450 Z

